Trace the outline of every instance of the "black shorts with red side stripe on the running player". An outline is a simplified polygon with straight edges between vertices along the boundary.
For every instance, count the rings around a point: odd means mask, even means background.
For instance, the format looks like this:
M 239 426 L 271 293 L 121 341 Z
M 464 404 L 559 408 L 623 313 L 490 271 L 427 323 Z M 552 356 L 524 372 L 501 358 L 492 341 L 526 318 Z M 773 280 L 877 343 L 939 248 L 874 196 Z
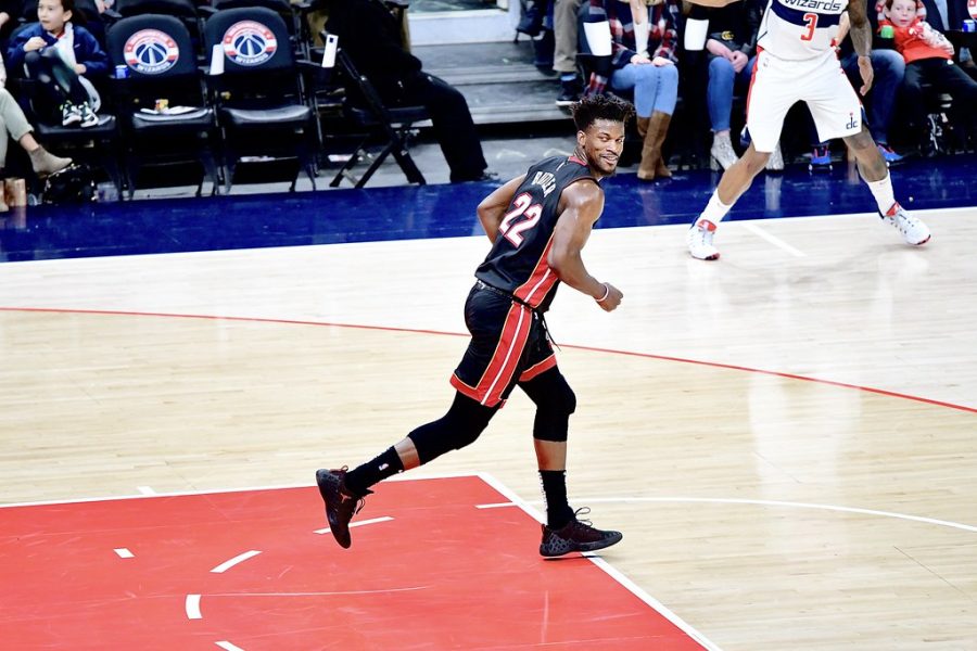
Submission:
M 538 314 L 475 283 L 465 302 L 468 349 L 452 386 L 486 407 L 504 404 L 519 382 L 556 367 Z

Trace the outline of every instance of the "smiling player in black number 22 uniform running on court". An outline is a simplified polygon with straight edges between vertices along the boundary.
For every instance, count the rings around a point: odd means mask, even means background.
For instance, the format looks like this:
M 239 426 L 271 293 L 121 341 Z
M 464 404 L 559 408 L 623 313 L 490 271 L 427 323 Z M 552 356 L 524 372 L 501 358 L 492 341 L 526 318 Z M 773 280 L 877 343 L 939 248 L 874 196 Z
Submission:
M 540 553 L 593 551 L 621 539 L 579 520 L 585 510 L 574 512 L 567 500 L 567 431 L 576 398 L 557 368 L 543 314 L 560 282 L 606 311 L 621 303 L 620 290 L 589 275 L 581 250 L 604 210 L 600 180 L 617 169 L 633 114 L 631 104 L 604 95 L 574 104 L 573 154 L 541 161 L 479 204 L 492 250 L 465 304 L 471 341 L 452 376 L 456 394 L 447 413 L 355 470 L 316 472 L 329 528 L 342 547 L 351 545 L 350 521 L 370 486 L 473 443 L 516 386 L 536 405 L 533 439 L 547 518 Z

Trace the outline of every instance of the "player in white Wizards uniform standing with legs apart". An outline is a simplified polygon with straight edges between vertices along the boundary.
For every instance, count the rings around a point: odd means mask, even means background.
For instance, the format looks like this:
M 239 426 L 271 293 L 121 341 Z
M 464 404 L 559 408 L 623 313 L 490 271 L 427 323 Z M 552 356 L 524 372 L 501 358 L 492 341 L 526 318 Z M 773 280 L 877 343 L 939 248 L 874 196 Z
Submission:
M 694 0 L 723 5 L 727 0 Z M 872 87 L 872 33 L 866 0 L 767 0 L 757 41 L 757 64 L 747 100 L 747 129 L 752 141 L 720 179 L 709 204 L 688 231 L 688 251 L 701 260 L 718 259 L 712 243 L 716 225 L 747 191 L 781 138 L 784 117 L 795 102 L 808 104 L 822 140 L 842 138 L 854 153 L 862 179 L 872 191 L 883 221 L 893 226 L 908 244 L 929 241 L 929 229 L 896 201 L 881 154 L 863 120 L 862 103 L 845 76 L 832 40 L 841 14 L 848 11 L 851 40 L 859 53 L 861 93 Z

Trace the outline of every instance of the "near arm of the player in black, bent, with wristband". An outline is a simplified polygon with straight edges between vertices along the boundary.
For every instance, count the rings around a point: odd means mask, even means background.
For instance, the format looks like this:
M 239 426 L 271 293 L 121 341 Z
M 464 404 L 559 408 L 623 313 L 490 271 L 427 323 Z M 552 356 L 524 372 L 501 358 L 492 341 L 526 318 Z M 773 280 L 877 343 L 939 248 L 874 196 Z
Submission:
M 553 231 L 553 246 L 547 259 L 549 268 L 562 282 L 611 311 L 621 303 L 623 294 L 612 284 L 591 276 L 581 257 L 594 222 L 604 212 L 604 190 L 597 183 L 579 181 L 563 191 L 560 204 L 560 217 Z

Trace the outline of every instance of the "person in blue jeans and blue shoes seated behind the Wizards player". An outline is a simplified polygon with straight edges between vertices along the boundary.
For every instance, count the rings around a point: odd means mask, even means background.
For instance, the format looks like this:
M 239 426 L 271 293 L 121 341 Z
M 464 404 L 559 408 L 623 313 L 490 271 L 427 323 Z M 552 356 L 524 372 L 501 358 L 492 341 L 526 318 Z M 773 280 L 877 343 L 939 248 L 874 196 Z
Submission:
M 871 8 L 871 5 L 870 5 Z M 874 31 L 878 30 L 879 12 L 884 11 L 884 0 L 878 0 L 876 10 L 868 13 L 868 23 Z M 841 60 L 841 69 L 848 75 L 852 86 L 859 88 L 862 84 L 861 73 L 859 73 L 859 55 L 854 51 L 851 39 L 847 38 L 851 25 L 848 20 L 848 12 L 841 14 L 841 22 L 838 24 L 838 36 L 835 37 L 838 48 L 838 58 Z M 876 43 L 872 48 L 870 54 L 872 59 L 872 69 L 875 72 L 872 81 L 872 90 L 865 98 L 868 114 L 868 130 L 872 138 L 878 146 L 879 153 L 886 159 L 886 163 L 898 163 L 902 156 L 889 146 L 889 126 L 892 123 L 892 111 L 896 107 L 896 93 L 902 84 L 902 77 L 905 74 L 905 61 L 902 55 L 885 47 L 884 42 Z M 813 144 L 813 153 L 811 155 L 811 165 L 813 167 L 830 166 L 830 143 L 821 142 L 817 132 L 814 130 L 814 123 L 811 122 L 811 142 Z

